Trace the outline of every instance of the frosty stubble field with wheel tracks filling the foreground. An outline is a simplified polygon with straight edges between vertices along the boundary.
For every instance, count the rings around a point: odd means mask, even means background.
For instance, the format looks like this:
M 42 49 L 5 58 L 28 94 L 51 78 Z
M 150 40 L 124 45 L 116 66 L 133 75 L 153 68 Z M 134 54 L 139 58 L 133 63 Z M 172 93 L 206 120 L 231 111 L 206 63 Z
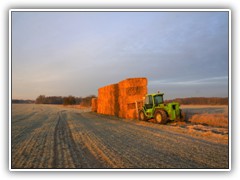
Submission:
M 12 168 L 228 168 L 228 145 L 176 127 L 13 105 Z

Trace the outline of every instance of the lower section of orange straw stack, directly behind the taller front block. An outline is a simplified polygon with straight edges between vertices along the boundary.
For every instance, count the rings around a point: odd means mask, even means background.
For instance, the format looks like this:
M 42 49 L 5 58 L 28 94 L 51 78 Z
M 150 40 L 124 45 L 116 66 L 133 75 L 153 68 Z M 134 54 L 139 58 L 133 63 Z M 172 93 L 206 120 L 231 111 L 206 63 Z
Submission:
M 98 107 L 100 114 L 118 115 L 118 84 L 111 84 L 98 89 Z

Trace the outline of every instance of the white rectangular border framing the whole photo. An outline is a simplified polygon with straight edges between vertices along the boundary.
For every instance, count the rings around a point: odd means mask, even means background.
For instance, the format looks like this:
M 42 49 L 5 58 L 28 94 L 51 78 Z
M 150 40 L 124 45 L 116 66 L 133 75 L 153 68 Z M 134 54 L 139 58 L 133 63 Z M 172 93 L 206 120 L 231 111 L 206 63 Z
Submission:
M 11 167 L 12 120 L 12 12 L 228 12 L 228 169 L 13 169 Z M 231 171 L 231 10 L 230 9 L 10 9 L 9 10 L 9 170 L 10 171 Z

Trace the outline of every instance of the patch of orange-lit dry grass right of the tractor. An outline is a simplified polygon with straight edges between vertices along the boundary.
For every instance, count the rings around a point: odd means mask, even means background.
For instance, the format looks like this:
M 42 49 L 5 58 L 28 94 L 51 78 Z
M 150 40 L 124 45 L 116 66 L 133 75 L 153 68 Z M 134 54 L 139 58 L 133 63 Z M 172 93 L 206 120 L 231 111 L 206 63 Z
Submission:
M 219 114 L 195 114 L 190 118 L 192 123 L 206 124 L 209 126 L 228 127 L 228 116 L 226 113 Z

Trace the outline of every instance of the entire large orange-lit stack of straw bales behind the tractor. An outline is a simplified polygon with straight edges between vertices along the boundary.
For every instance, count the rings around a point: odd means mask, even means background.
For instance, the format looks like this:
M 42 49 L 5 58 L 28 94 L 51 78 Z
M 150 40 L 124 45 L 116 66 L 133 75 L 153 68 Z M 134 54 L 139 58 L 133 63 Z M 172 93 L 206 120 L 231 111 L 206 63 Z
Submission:
M 111 84 L 98 89 L 97 112 L 115 115 L 121 118 L 136 119 L 136 101 L 142 100 L 147 94 L 147 78 L 129 78 L 118 84 Z M 92 100 L 92 111 L 95 100 Z

